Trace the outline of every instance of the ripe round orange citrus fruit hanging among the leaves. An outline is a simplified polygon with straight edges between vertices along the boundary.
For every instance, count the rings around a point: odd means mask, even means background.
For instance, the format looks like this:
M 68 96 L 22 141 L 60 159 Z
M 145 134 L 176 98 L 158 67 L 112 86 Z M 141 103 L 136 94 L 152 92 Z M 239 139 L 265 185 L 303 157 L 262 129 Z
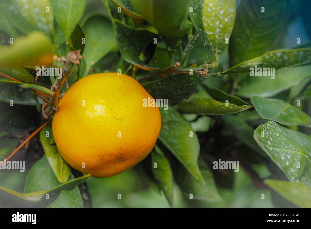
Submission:
M 161 128 L 159 108 L 143 107 L 148 97 L 124 74 L 99 73 L 77 81 L 53 117 L 53 136 L 63 159 L 93 177 L 114 176 L 142 161 Z

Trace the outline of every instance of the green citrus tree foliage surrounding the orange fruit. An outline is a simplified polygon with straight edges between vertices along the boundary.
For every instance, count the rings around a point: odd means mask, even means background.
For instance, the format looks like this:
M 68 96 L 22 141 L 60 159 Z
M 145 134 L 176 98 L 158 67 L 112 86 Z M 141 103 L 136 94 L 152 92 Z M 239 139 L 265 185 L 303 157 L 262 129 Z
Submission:
M 62 158 L 47 121 L 79 79 L 117 72 L 168 99 L 155 147 L 133 168 L 166 206 L 228 207 L 243 195 L 240 207 L 279 207 L 276 192 L 310 207 L 311 17 L 304 1 L 292 2 L 1 1 L 0 160 L 39 134 L 21 148 L 25 158 L 16 153 L 30 168 L 24 191 L 0 175 L 0 198 L 18 207 L 92 206 L 90 174 Z M 303 34 L 286 35 L 295 17 Z M 38 75 L 38 66 L 63 68 L 66 82 Z

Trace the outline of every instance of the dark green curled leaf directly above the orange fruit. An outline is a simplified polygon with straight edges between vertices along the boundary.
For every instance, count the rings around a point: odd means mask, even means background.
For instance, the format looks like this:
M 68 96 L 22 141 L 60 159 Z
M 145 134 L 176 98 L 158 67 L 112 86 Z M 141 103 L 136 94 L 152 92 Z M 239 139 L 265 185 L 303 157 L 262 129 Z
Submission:
M 123 59 L 144 70 L 158 69 L 148 66 L 148 64 L 142 62 L 139 58 L 149 43 L 157 37 L 157 34 L 145 29 L 132 29 L 116 19 L 113 19 L 113 23 L 116 30 L 118 47 Z

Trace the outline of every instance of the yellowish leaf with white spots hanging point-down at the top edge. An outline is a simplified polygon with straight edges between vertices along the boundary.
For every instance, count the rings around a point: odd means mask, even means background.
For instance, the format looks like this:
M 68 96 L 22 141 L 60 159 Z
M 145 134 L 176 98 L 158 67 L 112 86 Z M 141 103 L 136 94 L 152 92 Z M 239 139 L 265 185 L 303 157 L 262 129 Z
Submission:
M 218 65 L 219 55 L 233 29 L 235 5 L 235 0 L 204 0 L 202 21 L 207 39 L 215 55 L 215 66 Z

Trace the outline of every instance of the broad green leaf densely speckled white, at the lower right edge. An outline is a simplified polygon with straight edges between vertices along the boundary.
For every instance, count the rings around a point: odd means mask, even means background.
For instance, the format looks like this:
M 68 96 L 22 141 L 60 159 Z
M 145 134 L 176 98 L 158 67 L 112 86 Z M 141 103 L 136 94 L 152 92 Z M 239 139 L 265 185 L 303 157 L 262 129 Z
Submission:
M 254 139 L 291 182 L 311 187 L 311 136 L 268 121 L 257 127 Z

